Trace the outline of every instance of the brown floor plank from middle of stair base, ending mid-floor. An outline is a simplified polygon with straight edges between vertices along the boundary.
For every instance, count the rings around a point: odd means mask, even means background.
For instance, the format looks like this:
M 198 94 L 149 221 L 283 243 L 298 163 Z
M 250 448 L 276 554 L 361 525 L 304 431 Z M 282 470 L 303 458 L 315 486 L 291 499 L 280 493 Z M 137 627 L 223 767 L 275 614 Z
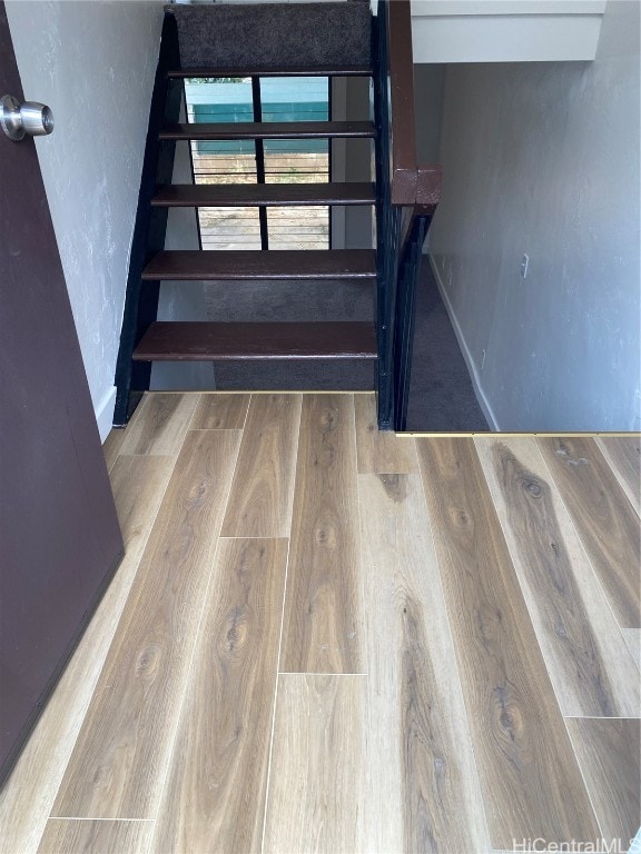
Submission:
M 358 673 L 364 663 L 351 395 L 303 400 L 283 671 Z

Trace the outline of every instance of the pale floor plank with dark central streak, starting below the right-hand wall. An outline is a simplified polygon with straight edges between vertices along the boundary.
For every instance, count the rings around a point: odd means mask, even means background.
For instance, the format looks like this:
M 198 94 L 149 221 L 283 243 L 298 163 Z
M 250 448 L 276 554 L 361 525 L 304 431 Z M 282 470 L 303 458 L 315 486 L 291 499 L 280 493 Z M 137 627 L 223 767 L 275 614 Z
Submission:
M 561 711 L 638 716 L 634 663 L 536 446 L 476 448 Z

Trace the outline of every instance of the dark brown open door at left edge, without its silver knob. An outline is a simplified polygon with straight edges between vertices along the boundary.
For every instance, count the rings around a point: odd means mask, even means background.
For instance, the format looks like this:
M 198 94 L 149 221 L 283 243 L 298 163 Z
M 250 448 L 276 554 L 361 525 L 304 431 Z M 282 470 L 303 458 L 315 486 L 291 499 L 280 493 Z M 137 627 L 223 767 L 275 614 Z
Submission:
M 0 0 L 3 95 L 23 100 Z M 121 554 L 36 147 L 0 130 L 0 779 Z

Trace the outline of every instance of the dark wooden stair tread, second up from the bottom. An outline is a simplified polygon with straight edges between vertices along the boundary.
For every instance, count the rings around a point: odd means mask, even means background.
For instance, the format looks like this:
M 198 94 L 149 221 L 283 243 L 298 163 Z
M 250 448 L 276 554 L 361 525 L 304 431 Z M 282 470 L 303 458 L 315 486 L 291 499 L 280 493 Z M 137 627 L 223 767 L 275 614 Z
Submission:
M 373 279 L 373 249 L 158 252 L 142 278 L 154 281 L 201 279 Z

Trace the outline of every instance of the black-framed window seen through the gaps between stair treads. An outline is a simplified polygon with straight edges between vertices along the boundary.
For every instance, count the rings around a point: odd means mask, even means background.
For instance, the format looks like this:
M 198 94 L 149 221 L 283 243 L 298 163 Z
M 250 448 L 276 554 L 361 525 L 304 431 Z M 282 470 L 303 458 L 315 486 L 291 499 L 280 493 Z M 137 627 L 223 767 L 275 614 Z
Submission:
M 190 122 L 325 121 L 326 77 L 189 79 Z M 329 180 L 326 139 L 194 141 L 196 183 L 315 183 Z M 200 208 L 204 249 L 328 249 L 329 209 Z

